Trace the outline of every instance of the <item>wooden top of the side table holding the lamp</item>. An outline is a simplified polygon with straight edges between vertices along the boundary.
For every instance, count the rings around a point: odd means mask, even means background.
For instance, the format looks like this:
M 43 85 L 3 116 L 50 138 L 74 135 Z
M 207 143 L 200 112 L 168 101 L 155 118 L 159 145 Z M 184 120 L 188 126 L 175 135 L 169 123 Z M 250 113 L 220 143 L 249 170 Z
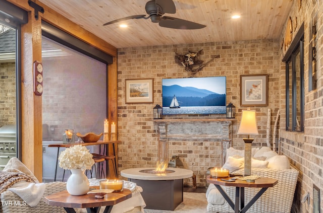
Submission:
M 224 179 L 230 179 L 224 178 Z M 221 186 L 235 186 L 235 187 L 251 187 L 251 188 L 268 188 L 277 184 L 277 180 L 274 178 L 260 177 L 254 182 L 247 182 L 245 180 L 236 180 L 233 182 L 223 181 L 221 178 L 212 178 L 209 175 L 206 177 L 208 183 L 213 183 Z

